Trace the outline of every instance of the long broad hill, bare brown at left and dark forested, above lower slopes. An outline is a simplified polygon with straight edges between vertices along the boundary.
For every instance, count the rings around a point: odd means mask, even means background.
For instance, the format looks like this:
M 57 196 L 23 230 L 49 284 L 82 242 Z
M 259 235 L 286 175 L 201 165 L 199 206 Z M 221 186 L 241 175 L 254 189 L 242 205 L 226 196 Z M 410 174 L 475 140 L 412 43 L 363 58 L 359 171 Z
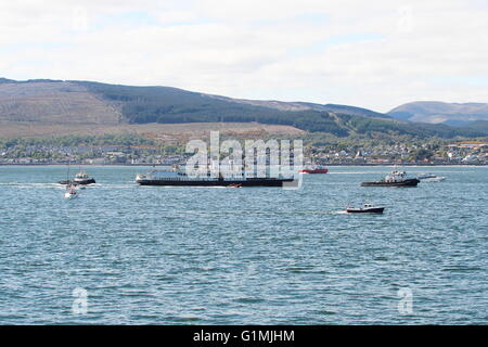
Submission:
M 398 120 L 374 111 L 336 104 L 232 99 L 171 87 L 132 87 L 76 80 L 0 79 L 0 123 L 120 125 L 259 123 L 306 131 L 415 137 L 488 136 L 472 127 Z

